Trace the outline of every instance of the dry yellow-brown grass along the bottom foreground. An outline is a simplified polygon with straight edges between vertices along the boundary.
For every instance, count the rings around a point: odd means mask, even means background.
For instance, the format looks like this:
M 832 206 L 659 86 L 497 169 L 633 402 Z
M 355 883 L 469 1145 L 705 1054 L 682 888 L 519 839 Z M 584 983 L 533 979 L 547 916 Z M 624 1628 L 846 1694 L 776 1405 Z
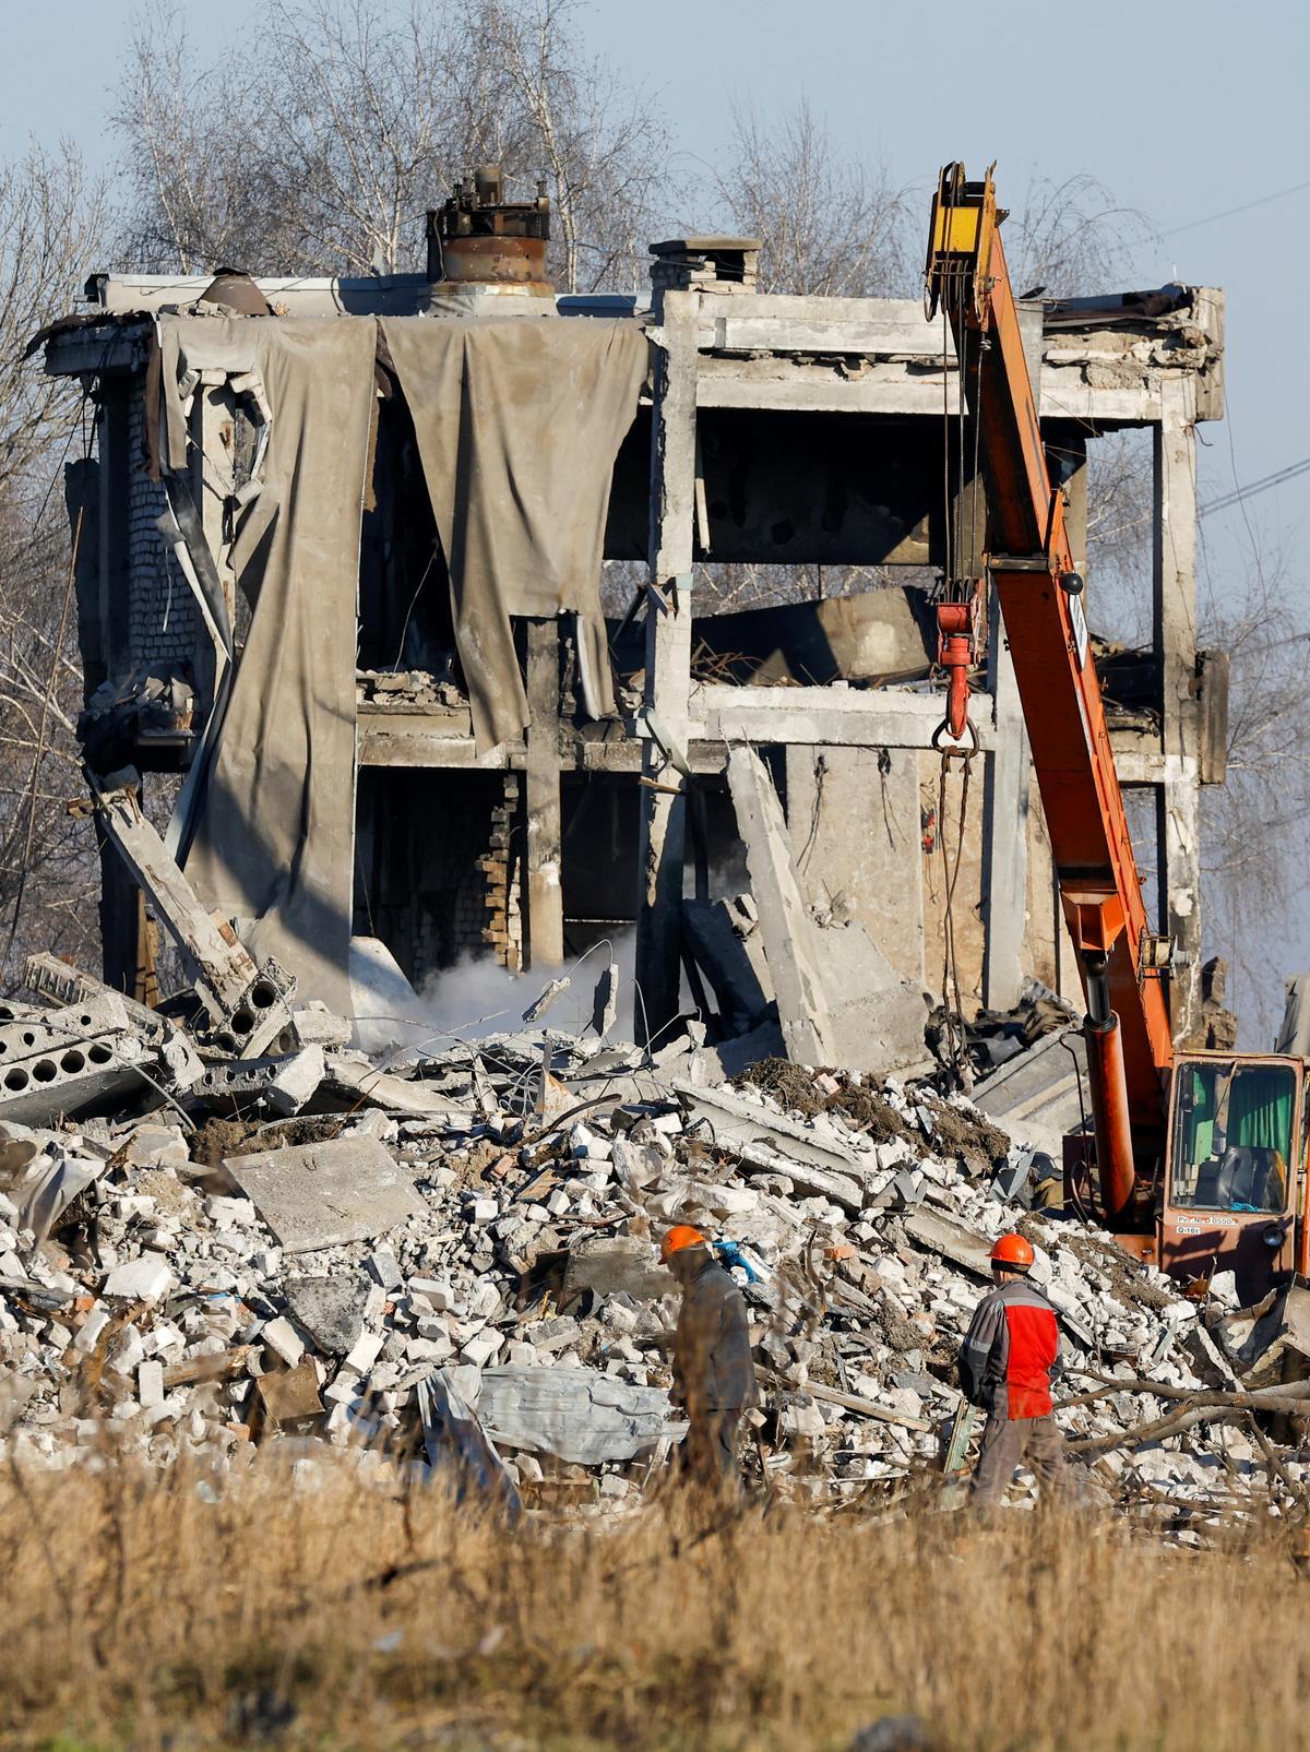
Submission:
M 1005 1514 L 511 1531 L 256 1465 L 0 1473 L 0 1747 L 1296 1747 L 1306 1584 Z

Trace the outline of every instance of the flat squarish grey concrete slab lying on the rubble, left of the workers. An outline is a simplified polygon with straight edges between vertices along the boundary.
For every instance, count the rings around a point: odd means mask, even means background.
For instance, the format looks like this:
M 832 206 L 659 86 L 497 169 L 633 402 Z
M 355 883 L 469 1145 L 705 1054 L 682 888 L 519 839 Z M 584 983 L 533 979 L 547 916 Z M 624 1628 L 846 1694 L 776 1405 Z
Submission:
M 375 1137 L 229 1156 L 224 1169 L 287 1253 L 373 1240 L 427 1205 Z

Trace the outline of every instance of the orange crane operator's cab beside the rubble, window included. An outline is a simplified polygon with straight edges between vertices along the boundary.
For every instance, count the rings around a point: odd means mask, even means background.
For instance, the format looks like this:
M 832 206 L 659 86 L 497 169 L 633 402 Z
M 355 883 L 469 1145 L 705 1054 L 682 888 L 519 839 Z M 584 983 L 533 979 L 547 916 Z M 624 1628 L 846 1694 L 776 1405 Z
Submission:
M 1305 1060 L 1179 1055 L 1158 1211 L 1163 1270 L 1231 1270 L 1243 1305 L 1305 1270 Z

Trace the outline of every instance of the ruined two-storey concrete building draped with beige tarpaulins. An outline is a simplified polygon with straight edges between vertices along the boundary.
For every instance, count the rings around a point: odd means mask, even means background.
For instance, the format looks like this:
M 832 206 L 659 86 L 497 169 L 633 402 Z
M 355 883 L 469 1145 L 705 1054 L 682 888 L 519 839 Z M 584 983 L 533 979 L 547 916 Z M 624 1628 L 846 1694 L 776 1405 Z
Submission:
M 427 275 L 96 277 L 51 336 L 98 419 L 70 473 L 89 766 L 182 774 L 166 844 L 201 902 L 342 1014 L 385 1007 L 391 958 L 424 988 L 464 953 L 553 967 L 636 925 L 639 1028 L 695 1007 L 711 1039 L 855 1063 L 842 969 L 942 986 L 960 781 L 942 820 L 930 580 L 961 506 L 954 571 L 984 545 L 954 350 L 918 303 L 757 293 L 748 238 L 655 245 L 646 298 L 555 296 L 543 203 L 503 193 L 480 173 L 429 215 Z M 1105 682 L 1121 780 L 1154 801 L 1179 1039 L 1200 787 L 1224 778 L 1226 662 L 1196 650 L 1222 308 L 1182 286 L 1026 308 L 1084 569 L 1089 447 L 1152 434 L 1154 646 Z M 750 606 L 762 568 L 792 599 Z M 1025 976 L 1077 1002 L 995 627 L 977 683 L 963 1007 Z M 147 999 L 147 908 L 109 846 L 102 916 L 107 981 Z

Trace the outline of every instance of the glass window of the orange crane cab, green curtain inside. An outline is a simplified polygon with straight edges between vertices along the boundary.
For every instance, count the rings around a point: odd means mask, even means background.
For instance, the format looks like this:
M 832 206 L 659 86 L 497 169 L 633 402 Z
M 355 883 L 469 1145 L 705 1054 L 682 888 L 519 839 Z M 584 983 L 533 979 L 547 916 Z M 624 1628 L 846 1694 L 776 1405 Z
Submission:
M 1285 1211 L 1296 1116 L 1292 1069 L 1184 1060 L 1175 1077 L 1172 1204 Z

